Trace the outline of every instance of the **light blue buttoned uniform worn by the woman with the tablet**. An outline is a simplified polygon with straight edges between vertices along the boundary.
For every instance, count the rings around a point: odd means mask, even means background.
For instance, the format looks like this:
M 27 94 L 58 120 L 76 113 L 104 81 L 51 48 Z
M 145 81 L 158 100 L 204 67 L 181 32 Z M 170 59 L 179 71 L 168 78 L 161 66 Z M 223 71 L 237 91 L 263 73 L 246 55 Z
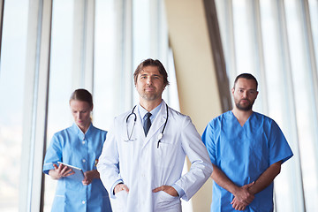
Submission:
M 71 164 L 84 172 L 96 170 L 106 133 L 92 124 L 85 134 L 76 124 L 55 133 L 45 155 L 43 172 L 49 174 L 57 162 Z M 83 186 L 81 181 L 60 178 L 52 211 L 111 211 L 110 199 L 100 179 Z

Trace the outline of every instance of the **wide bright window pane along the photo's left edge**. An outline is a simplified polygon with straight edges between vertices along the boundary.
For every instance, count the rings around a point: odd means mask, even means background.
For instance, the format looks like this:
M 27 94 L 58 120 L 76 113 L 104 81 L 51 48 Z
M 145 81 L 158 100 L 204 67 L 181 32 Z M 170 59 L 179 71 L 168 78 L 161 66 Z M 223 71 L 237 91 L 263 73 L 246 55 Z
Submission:
M 1 49 L 0 210 L 19 209 L 24 77 L 27 47 L 27 0 L 5 1 Z

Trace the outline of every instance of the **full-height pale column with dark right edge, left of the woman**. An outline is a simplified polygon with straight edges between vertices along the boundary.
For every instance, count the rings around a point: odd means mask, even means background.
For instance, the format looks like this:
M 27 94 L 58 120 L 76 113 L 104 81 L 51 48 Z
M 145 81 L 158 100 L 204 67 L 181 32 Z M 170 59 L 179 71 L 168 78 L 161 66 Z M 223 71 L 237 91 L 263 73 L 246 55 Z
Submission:
M 51 0 L 30 1 L 19 211 L 40 211 L 42 203 L 42 160 L 47 128 L 51 11 Z

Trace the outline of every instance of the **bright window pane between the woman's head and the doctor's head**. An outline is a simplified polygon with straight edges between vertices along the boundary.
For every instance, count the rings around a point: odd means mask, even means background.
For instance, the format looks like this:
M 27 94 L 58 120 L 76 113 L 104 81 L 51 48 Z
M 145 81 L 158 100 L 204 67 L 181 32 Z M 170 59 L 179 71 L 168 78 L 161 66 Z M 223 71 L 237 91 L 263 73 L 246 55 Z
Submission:
M 116 11 L 114 0 L 97 0 L 95 4 L 95 54 L 94 54 L 94 125 L 110 129 L 113 117 L 118 115 L 119 91 L 115 90 L 120 79 L 116 76 Z M 119 82 L 120 83 L 120 82 Z

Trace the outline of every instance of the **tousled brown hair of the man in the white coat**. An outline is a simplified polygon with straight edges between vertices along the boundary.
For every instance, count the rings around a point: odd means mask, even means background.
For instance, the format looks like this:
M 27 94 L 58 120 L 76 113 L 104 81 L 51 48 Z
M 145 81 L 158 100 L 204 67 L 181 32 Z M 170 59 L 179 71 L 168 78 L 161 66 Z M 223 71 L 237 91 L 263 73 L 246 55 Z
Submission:
M 158 71 L 160 72 L 161 75 L 163 75 L 163 84 L 165 86 L 169 85 L 169 81 L 168 81 L 168 73 L 166 72 L 166 70 L 163 67 L 163 64 L 159 61 L 159 60 L 154 60 L 151 58 L 148 58 L 144 61 L 141 62 L 141 64 L 139 64 L 135 70 L 135 72 L 133 72 L 133 79 L 134 79 L 134 83 L 135 85 L 137 84 L 137 78 L 138 78 L 138 74 L 142 71 L 142 69 L 146 66 L 155 66 L 158 68 Z

